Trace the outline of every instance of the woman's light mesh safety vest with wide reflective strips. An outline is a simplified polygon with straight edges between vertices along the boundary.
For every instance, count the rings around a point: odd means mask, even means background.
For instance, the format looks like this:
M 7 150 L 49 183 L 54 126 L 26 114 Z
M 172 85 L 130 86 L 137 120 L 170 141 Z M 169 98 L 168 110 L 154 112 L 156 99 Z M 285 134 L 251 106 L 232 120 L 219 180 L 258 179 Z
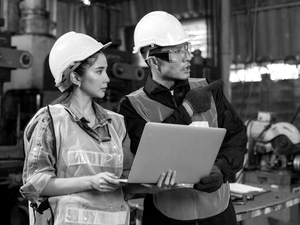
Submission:
M 107 123 L 111 140 L 100 144 L 99 140 L 95 140 L 79 127 L 63 106 L 49 106 L 56 144 L 58 178 L 91 176 L 106 171 L 120 178 L 123 171 L 122 141 L 126 135 L 124 118 L 106 111 L 112 117 L 111 123 Z M 38 114 L 39 112 L 36 113 Z M 28 146 L 26 133 L 34 119 L 35 116 L 24 130 L 25 154 Z M 122 187 L 112 192 L 86 190 L 53 196 L 48 201 L 50 208 L 44 214 L 35 212 L 36 222 L 33 211 L 30 210 L 30 224 L 47 224 L 47 219 L 51 218 L 50 210 L 53 212 L 54 224 L 59 225 L 129 224 L 129 205 L 124 201 Z

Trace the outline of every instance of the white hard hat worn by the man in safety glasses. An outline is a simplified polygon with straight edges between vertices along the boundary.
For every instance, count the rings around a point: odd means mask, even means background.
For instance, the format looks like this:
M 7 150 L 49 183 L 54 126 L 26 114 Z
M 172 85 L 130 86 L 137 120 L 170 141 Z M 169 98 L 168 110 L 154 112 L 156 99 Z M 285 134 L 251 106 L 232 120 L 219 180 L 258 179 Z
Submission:
M 183 44 L 195 37 L 196 35 L 189 35 L 179 20 L 171 14 L 162 11 L 151 12 L 140 20 L 134 30 L 133 53 L 144 48 L 142 56 L 146 60 L 150 49 Z

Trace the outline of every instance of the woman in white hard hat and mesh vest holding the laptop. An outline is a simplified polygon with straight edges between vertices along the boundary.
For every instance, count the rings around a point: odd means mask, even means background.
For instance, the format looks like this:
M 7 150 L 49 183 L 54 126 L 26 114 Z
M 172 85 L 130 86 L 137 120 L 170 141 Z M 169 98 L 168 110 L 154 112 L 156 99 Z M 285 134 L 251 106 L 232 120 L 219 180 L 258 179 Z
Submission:
M 92 100 L 104 97 L 109 82 L 102 50 L 110 44 L 69 32 L 50 52 L 50 69 L 63 94 L 24 130 L 20 192 L 31 202 L 31 224 L 129 224 L 132 194 L 118 179 L 128 178 L 133 162 L 130 139 L 123 116 Z M 173 185 L 175 173 L 164 178 L 157 185 L 127 184 L 126 190 L 156 193 L 180 186 Z

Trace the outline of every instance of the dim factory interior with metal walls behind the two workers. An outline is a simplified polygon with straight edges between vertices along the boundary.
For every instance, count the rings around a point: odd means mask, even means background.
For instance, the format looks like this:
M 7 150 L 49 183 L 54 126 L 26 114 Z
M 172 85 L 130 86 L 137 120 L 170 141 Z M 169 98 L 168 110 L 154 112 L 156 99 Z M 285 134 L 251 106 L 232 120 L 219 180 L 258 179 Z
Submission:
M 191 40 L 191 78 L 223 79 L 226 98 L 247 125 L 244 170 L 231 182 L 268 190 L 300 190 L 300 146 L 280 129 L 300 129 L 300 1 L 298 0 L 0 0 L 0 225 L 29 224 L 19 193 L 24 165 L 22 132 L 34 113 L 61 93 L 49 68 L 55 41 L 74 31 L 105 50 L 110 82 L 103 108 L 146 83 L 150 69 L 133 54 L 134 29 L 152 11 L 175 16 Z M 259 112 L 261 112 L 259 114 Z M 259 116 L 261 117 L 258 117 Z M 265 147 L 277 122 L 280 138 Z M 272 149 L 272 148 L 271 148 Z M 265 169 L 269 175 L 257 171 Z M 131 224 L 137 224 L 132 213 Z M 240 224 L 296 224 L 289 208 Z M 299 221 L 299 218 L 298 218 Z M 299 224 L 299 223 L 298 223 Z

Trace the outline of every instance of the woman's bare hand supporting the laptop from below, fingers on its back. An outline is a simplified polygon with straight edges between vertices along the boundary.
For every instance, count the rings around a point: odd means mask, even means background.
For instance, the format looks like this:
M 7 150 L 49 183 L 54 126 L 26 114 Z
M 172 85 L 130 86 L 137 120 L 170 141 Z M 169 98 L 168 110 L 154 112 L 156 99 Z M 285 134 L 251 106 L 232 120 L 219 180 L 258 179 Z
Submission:
M 161 174 L 157 184 L 141 184 L 145 187 L 148 187 L 148 193 L 156 194 L 158 192 L 169 190 L 173 188 L 181 187 L 182 184 L 175 184 L 176 171 L 172 173 L 172 170 L 169 170 L 165 179 L 165 173 Z

